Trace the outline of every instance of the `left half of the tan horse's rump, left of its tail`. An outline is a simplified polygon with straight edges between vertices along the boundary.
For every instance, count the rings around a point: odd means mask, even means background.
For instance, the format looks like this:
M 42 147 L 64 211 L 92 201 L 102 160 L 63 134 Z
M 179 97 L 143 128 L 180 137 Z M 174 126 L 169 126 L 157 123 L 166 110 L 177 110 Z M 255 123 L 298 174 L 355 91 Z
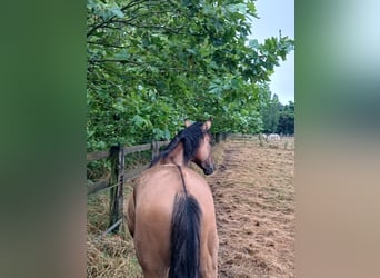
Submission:
M 134 249 L 144 277 L 166 277 L 174 199 L 173 173 L 151 168 L 134 185 Z

